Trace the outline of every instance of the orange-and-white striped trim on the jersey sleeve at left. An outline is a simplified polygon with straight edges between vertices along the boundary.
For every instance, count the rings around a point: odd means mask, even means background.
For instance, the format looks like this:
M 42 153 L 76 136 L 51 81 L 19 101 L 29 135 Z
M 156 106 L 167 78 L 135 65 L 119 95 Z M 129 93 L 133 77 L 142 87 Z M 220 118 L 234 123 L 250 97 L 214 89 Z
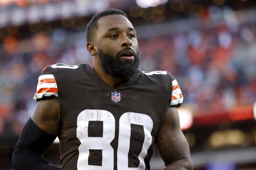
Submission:
M 53 74 L 41 75 L 38 78 L 37 92 L 35 93 L 34 100 L 42 98 L 43 96 L 58 96 L 57 83 Z

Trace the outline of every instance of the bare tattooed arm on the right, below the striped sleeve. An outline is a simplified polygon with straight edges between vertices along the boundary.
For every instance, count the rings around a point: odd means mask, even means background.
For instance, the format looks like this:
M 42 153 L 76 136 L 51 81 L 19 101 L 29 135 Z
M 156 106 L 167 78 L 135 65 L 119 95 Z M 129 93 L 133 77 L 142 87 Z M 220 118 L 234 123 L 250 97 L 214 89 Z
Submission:
M 184 137 L 177 108 L 169 108 L 158 130 L 156 144 L 165 166 L 163 170 L 193 169 L 189 146 Z

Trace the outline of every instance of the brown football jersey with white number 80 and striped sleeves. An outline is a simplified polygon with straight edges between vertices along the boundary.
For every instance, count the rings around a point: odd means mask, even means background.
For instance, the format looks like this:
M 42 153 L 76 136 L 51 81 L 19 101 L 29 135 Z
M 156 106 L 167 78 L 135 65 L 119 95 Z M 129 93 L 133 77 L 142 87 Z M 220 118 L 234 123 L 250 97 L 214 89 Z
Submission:
M 47 66 L 34 100 L 44 96 L 61 105 L 61 165 L 69 170 L 149 170 L 166 110 L 183 101 L 167 71 L 139 71 L 113 88 L 87 64 Z

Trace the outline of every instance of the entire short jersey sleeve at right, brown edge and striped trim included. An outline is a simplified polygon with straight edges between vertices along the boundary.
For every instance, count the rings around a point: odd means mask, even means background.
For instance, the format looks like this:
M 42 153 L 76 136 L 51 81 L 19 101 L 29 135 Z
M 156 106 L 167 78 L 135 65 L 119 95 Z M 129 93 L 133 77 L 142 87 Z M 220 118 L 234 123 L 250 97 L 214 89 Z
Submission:
M 171 76 L 171 107 L 180 107 L 183 102 L 183 95 L 177 80 Z

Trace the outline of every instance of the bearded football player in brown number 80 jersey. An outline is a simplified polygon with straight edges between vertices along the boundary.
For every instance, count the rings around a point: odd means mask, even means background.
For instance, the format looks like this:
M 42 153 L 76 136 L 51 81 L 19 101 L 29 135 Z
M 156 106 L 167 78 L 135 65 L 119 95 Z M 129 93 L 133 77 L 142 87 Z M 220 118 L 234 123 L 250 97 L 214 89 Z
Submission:
M 46 66 L 35 111 L 15 147 L 15 169 L 53 169 L 43 151 L 58 136 L 69 170 L 150 169 L 156 143 L 166 167 L 192 169 L 179 126 L 183 101 L 167 71 L 139 71 L 136 32 L 125 13 L 109 9 L 87 25 L 87 64 Z

